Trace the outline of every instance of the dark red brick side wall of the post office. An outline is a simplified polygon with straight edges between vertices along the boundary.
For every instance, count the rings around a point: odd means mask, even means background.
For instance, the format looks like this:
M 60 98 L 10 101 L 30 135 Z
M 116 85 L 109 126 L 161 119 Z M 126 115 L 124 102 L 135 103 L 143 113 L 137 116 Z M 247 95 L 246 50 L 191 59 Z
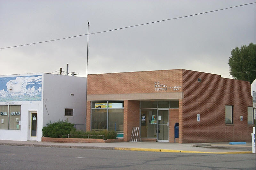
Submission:
M 252 107 L 249 82 L 182 70 L 182 87 L 181 143 L 251 140 L 252 125 L 247 124 L 247 107 Z M 225 105 L 233 105 L 233 124 L 225 123 Z

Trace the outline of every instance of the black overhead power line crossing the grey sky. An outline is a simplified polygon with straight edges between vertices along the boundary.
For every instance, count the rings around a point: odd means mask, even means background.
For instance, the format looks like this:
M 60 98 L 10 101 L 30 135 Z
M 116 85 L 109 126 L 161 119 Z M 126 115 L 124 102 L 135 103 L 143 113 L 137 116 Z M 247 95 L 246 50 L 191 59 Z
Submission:
M 254 3 L 250 3 L 250 4 L 255 4 L 255 2 L 254 2 Z M 105 32 L 109 32 L 109 31 L 116 31 L 116 30 L 125 29 L 125 28 L 131 28 L 131 27 L 135 27 L 135 26 L 142 26 L 142 25 L 153 24 L 153 23 L 163 22 L 163 21 L 168 21 L 168 20 L 173 20 L 173 19 L 191 17 L 191 16 L 195 16 L 195 15 L 201 15 L 201 14 L 206 14 L 206 13 L 210 13 L 210 12 L 216 12 L 216 11 L 221 11 L 221 10 L 227 10 L 227 9 L 230 9 L 230 8 L 236 8 L 236 7 L 240 7 L 240 6 L 244 6 L 244 5 L 250 5 L 250 4 L 243 4 L 243 5 L 238 5 L 238 6 L 232 6 L 232 7 L 223 8 L 223 9 L 214 10 L 214 11 L 202 12 L 202 13 L 197 13 L 197 14 L 192 14 L 192 15 L 187 15 L 187 16 L 177 17 L 177 18 L 164 19 L 164 20 L 159 20 L 159 21 L 154 21 L 154 22 L 148 22 L 148 23 L 144 23 L 144 24 L 138 24 L 138 25 L 134 25 L 134 26 L 127 26 L 127 27 L 116 28 L 116 29 L 112 29 L 112 30 L 100 31 L 100 32 L 96 32 L 96 33 L 105 33 Z M 32 44 L 39 44 L 39 43 L 44 43 L 44 42 L 63 40 L 63 39 L 74 38 L 74 37 L 80 37 L 80 36 L 90 35 L 90 34 L 96 34 L 96 33 L 88 33 L 88 34 L 76 35 L 76 36 L 72 36 L 72 37 L 60 38 L 60 39 L 49 40 L 49 41 L 41 41 L 41 42 L 35 42 L 35 43 L 23 44 L 23 45 L 17 45 L 17 46 L 12 46 L 12 47 L 5 47 L 5 48 L 13 48 L 13 47 L 20 47 L 20 46 L 26 46 L 26 45 L 32 45 Z M 0 48 L 0 49 L 5 49 L 5 48 Z

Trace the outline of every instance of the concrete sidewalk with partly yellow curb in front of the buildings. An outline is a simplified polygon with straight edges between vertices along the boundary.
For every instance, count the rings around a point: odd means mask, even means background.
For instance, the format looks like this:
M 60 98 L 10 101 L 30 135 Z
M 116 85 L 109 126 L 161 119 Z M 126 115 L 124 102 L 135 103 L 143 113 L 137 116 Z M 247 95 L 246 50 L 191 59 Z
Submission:
M 59 147 L 83 149 L 108 149 L 148 152 L 183 152 L 183 153 L 213 153 L 235 154 L 252 153 L 252 142 L 246 144 L 229 144 L 228 142 L 210 143 L 210 146 L 193 147 L 193 144 L 178 144 L 165 142 L 116 142 L 116 143 L 53 143 L 35 141 L 0 140 L 0 145 L 32 146 L 32 147 Z M 206 145 L 209 145 L 206 144 Z

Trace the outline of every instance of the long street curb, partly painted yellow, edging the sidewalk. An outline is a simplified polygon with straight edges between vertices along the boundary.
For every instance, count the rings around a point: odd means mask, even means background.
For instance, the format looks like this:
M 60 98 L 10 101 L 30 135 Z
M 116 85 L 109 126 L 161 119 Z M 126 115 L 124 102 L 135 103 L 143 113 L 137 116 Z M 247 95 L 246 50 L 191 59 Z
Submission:
M 239 152 L 200 152 L 200 151 L 183 151 L 171 149 L 149 149 L 149 148 L 116 148 L 116 147 L 100 147 L 100 146 L 74 146 L 74 145 L 48 145 L 48 144 L 12 144 L 0 143 L 0 145 L 9 146 L 30 146 L 30 147 L 49 147 L 49 148 L 76 148 L 76 149 L 103 149 L 103 150 L 119 150 L 119 151 L 143 151 L 143 152 L 172 152 L 172 153 L 208 153 L 208 154 L 248 154 L 252 151 Z

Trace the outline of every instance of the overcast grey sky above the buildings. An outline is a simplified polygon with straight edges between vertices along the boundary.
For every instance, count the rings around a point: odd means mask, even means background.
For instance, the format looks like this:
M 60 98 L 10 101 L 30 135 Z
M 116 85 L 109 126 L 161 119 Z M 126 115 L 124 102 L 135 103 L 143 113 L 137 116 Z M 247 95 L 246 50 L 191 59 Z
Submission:
M 0 0 L 0 48 L 183 17 L 255 0 Z M 230 51 L 255 43 L 255 4 L 89 35 L 88 74 L 187 69 L 229 73 Z M 0 75 L 86 76 L 87 35 L 0 49 Z M 55 72 L 54 72 L 55 71 Z M 64 73 L 66 74 L 66 73 Z

